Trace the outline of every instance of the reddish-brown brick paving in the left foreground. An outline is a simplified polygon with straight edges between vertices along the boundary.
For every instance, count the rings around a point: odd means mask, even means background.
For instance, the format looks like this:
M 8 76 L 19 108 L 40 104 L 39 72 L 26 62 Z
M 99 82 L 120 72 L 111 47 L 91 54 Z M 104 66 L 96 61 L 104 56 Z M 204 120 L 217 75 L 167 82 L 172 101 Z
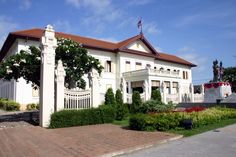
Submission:
M 9 125 L 12 126 L 12 125 Z M 0 128 L 1 157 L 112 156 L 176 137 L 160 132 L 131 131 L 116 125 L 44 129 L 22 125 Z

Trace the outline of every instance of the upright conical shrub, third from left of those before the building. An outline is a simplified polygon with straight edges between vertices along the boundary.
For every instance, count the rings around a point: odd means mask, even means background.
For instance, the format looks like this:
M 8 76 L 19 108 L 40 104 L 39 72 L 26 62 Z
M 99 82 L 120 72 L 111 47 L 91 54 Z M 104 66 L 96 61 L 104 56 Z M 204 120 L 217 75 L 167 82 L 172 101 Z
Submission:
M 130 106 L 132 113 L 139 112 L 139 109 L 142 105 L 142 100 L 138 91 L 134 91 L 132 95 L 132 105 Z

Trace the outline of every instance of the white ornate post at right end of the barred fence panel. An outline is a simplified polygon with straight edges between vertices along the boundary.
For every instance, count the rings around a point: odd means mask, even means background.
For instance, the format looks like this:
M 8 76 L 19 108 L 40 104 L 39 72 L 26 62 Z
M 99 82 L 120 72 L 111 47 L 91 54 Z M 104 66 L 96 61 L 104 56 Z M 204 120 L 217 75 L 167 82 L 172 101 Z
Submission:
M 99 92 L 99 74 L 97 70 L 91 69 L 88 75 L 89 86 L 91 88 L 92 107 L 100 105 L 100 92 Z

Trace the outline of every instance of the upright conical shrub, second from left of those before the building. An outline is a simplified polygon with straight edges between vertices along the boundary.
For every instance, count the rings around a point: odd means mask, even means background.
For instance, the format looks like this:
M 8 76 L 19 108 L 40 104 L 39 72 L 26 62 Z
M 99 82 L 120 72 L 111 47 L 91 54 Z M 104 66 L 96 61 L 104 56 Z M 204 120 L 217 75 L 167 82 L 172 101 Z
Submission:
M 118 89 L 116 90 L 116 120 L 122 120 L 125 118 L 125 116 L 128 113 L 128 109 L 126 106 L 123 104 L 123 98 L 122 98 L 122 93 Z

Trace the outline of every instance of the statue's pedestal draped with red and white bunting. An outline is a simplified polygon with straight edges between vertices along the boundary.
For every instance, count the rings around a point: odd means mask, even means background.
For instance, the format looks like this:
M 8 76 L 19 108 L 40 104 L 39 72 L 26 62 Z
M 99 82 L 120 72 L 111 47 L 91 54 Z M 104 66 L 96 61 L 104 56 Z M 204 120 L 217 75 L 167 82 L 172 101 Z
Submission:
M 204 102 L 217 102 L 232 94 L 231 86 L 228 82 L 214 82 L 204 84 Z

